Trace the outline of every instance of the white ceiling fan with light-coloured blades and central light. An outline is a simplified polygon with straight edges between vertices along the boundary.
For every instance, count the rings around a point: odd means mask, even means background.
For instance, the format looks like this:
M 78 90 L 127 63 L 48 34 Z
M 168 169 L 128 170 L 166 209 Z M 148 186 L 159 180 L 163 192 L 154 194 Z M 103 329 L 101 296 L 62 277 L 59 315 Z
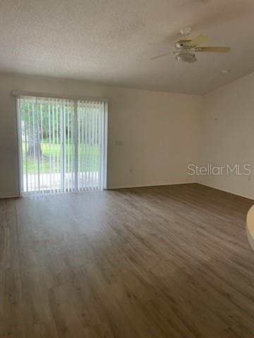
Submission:
M 207 42 L 208 37 L 205 35 L 198 35 L 198 37 L 192 39 L 190 37 L 191 31 L 191 27 L 185 27 L 180 30 L 181 38 L 176 41 L 174 46 L 172 46 L 172 50 L 164 54 L 153 56 L 152 58 L 150 58 L 150 60 L 155 60 L 155 58 L 162 58 L 163 56 L 167 56 L 169 54 L 175 54 L 176 61 L 193 63 L 195 61 L 198 61 L 195 53 L 228 53 L 230 51 L 230 47 L 200 46 L 201 44 Z

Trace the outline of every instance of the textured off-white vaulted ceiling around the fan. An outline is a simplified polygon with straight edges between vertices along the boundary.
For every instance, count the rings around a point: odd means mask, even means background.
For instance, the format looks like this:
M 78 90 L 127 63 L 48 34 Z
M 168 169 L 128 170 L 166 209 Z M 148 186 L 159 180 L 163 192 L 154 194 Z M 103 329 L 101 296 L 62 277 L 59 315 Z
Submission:
M 231 52 L 147 60 L 186 25 Z M 254 71 L 253 0 L 1 0 L 0 32 L 5 73 L 204 94 Z

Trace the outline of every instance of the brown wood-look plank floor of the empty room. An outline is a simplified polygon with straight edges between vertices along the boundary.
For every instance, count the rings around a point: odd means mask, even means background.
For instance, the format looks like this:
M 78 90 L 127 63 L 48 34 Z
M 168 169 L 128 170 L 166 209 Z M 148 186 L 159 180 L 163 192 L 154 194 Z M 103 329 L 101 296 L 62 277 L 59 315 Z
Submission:
M 0 337 L 254 337 L 253 201 L 202 187 L 0 201 Z

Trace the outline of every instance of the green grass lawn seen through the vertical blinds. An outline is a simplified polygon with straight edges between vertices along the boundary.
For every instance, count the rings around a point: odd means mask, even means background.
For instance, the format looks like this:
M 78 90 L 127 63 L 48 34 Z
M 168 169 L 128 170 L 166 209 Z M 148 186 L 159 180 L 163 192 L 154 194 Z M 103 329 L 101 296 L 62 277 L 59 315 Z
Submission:
M 40 173 L 60 173 L 61 172 L 61 145 L 42 143 L 42 157 L 39 161 Z M 66 172 L 71 173 L 73 168 L 71 167 L 73 161 L 73 146 L 66 144 Z M 98 171 L 99 170 L 99 146 L 90 146 L 88 144 L 78 145 L 79 163 L 78 170 L 85 171 Z M 51 163 L 51 164 L 50 164 Z M 50 168 L 51 167 L 51 168 Z M 23 173 L 26 173 L 28 168 L 28 174 L 38 173 L 38 160 L 37 158 L 28 157 L 26 161 L 26 149 L 25 142 L 23 142 Z M 53 170 L 54 168 L 54 170 Z

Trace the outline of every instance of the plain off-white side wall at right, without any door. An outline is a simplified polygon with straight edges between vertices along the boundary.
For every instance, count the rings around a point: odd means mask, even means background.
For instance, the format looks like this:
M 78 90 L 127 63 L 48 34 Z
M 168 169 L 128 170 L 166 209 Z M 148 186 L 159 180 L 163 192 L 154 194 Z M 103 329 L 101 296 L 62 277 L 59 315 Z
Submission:
M 202 99 L 200 163 L 250 163 L 254 170 L 254 73 Z M 254 172 L 199 176 L 198 182 L 254 199 Z

